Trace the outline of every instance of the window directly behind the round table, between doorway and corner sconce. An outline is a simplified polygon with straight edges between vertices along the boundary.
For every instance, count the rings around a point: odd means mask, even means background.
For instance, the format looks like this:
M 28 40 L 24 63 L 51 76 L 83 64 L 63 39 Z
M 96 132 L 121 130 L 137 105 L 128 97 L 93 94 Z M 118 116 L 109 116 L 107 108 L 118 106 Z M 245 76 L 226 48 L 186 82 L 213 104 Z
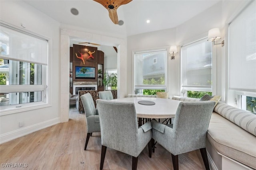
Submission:
M 134 53 L 135 94 L 155 94 L 166 90 L 167 49 Z

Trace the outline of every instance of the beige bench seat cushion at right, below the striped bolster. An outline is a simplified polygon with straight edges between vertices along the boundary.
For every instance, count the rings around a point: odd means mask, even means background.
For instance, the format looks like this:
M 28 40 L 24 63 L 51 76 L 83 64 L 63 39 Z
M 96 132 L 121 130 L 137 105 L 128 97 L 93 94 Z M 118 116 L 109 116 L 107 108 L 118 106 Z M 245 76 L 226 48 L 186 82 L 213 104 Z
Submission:
M 207 138 L 221 154 L 256 169 L 256 137 L 251 133 L 213 112 Z

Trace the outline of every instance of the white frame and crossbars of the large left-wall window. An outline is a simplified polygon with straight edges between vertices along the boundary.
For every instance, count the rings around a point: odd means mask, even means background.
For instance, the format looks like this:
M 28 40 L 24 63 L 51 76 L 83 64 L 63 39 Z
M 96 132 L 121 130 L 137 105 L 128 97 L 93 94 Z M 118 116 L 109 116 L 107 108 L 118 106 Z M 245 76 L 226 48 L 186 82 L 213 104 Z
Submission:
M 18 93 L 18 92 L 38 92 L 42 91 L 42 97 L 40 102 L 31 102 L 31 103 L 24 103 L 24 104 L 14 104 L 10 106 L 1 106 L 0 107 L 0 116 L 8 115 L 13 113 L 20 113 L 24 111 L 30 111 L 34 109 L 40 109 L 44 107 L 50 107 L 50 97 L 49 97 L 49 80 L 50 75 L 49 73 L 49 59 L 52 54 L 52 39 L 39 35 L 38 33 L 33 33 L 31 31 L 27 31 L 24 29 L 20 29 L 19 27 L 10 25 L 3 21 L 0 21 L 0 25 L 13 29 L 15 31 L 20 31 L 21 33 L 32 35 L 39 39 L 44 39 L 48 41 L 48 65 L 42 65 L 42 84 L 41 85 L 1 85 L 0 92 L 1 93 Z M 0 57 L 2 58 L 2 57 Z

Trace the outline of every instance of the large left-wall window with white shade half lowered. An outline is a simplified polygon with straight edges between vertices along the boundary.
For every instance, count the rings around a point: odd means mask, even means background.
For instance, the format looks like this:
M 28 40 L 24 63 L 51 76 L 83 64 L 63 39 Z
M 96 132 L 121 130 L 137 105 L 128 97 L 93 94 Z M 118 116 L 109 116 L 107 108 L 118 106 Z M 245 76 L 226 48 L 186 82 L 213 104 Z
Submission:
M 1 22 L 0 110 L 46 104 L 48 41 Z

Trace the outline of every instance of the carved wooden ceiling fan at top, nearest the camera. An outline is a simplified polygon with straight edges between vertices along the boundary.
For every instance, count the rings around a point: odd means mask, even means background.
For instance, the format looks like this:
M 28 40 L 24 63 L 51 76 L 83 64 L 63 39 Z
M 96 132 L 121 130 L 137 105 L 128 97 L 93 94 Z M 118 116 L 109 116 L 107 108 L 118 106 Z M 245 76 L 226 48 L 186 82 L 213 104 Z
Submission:
M 116 12 L 117 8 L 120 5 L 128 4 L 132 0 L 94 0 L 94 1 L 102 4 L 102 6 L 104 6 L 108 10 L 109 17 L 112 20 L 112 22 L 114 24 L 118 24 L 118 16 Z

